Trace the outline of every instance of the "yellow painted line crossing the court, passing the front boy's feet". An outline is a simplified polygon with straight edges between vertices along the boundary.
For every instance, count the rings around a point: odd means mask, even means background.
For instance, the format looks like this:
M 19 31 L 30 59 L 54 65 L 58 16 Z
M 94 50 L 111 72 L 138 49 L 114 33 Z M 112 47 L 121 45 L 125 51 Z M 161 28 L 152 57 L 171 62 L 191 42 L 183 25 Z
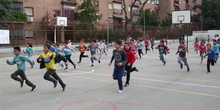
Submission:
M 116 83 L 115 81 L 108 81 L 108 80 L 95 79 L 95 78 L 89 78 L 89 77 L 75 76 L 75 75 L 69 75 L 69 74 L 63 74 L 63 75 L 70 76 L 70 77 L 75 77 L 75 78 L 82 78 L 82 79 L 89 79 L 89 80 L 95 80 L 95 81 Z M 205 93 L 199 93 L 199 92 L 182 91 L 182 90 L 167 89 L 167 88 L 160 88 L 160 87 L 146 86 L 146 85 L 138 85 L 138 84 L 131 84 L 131 85 L 137 86 L 137 87 L 144 87 L 144 88 L 151 88 L 151 89 L 158 89 L 158 90 L 173 91 L 173 92 L 180 92 L 180 93 L 186 93 L 186 94 L 195 94 L 195 95 L 201 95 L 201 96 L 220 98 L 219 95 L 205 94 Z

